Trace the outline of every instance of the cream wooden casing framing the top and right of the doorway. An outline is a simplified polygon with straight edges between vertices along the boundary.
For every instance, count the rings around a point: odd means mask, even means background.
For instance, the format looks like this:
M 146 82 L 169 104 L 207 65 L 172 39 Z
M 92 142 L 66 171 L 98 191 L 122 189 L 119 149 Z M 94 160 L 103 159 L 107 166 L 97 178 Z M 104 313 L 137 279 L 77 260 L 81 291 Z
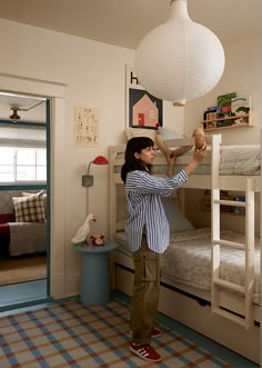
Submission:
M 50 235 L 50 267 L 49 267 L 49 289 L 50 298 L 60 299 L 68 296 L 69 282 L 66 282 L 66 219 L 61 213 L 66 213 L 67 188 L 66 172 L 61 167 L 67 166 L 64 155 L 66 139 L 66 90 L 67 84 L 56 81 L 37 80 L 36 78 L 10 76 L 0 73 L 1 90 L 7 92 L 48 97 L 51 102 L 51 177 L 50 206 L 48 208 L 51 221 L 48 222 Z

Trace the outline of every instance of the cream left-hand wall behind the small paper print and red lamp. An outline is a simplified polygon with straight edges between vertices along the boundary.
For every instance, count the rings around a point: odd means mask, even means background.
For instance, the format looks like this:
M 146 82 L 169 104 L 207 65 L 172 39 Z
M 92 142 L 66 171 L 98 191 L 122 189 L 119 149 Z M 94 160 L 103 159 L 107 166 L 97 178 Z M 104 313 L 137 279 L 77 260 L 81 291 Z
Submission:
M 19 77 L 19 82 L 10 83 L 14 92 L 24 92 L 26 80 L 31 81 L 30 93 L 34 80 L 40 81 L 37 95 L 41 82 L 42 96 L 49 90 L 47 86 L 66 88 L 64 100 L 57 100 L 52 113 L 52 223 L 56 226 L 52 227 L 51 290 L 56 298 L 74 295 L 79 291 L 81 259 L 72 249 L 71 237 L 89 212 L 98 218 L 92 232 L 108 235 L 108 167 L 92 167 L 94 186 L 89 189 L 89 206 L 81 176 L 97 155 L 108 157 L 110 145 L 124 142 L 125 63 L 132 66 L 134 51 L 3 19 L 0 19 L 0 73 Z M 99 108 L 98 148 L 74 147 L 74 107 Z M 183 132 L 183 109 L 164 103 L 164 126 Z

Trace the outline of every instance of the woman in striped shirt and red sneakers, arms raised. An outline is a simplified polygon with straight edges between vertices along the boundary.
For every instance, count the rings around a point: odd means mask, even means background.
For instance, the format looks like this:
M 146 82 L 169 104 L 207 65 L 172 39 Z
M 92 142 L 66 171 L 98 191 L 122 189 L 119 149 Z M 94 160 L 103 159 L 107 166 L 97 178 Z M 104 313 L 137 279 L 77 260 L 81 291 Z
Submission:
M 153 147 L 153 140 L 148 137 L 130 139 L 121 178 L 128 202 L 125 232 L 134 262 L 129 348 L 140 358 L 157 362 L 161 357 L 152 348 L 151 337 L 160 335 L 154 328 L 160 292 L 160 257 L 169 246 L 170 233 L 161 197 L 168 197 L 188 181 L 189 176 L 204 158 L 206 146 L 195 150 L 185 169 L 172 177 L 151 175 Z M 179 155 L 180 148 L 172 157 L 167 156 L 169 175 Z

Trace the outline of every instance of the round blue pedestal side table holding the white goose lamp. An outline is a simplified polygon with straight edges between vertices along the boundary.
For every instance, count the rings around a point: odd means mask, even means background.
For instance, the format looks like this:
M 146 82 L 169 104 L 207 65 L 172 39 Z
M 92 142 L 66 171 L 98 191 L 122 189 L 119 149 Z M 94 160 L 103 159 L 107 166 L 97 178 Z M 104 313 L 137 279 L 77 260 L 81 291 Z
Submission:
M 77 247 L 83 253 L 80 301 L 83 305 L 105 305 L 110 300 L 109 252 L 118 248 L 111 240 L 102 247 Z

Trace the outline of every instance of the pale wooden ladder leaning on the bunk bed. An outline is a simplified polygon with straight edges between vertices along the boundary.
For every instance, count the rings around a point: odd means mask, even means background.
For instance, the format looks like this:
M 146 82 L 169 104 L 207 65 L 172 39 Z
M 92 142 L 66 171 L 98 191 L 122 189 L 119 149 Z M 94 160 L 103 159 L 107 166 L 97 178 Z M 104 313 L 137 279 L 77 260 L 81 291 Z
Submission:
M 220 199 L 220 142 L 221 136 L 212 137 L 212 314 L 228 318 L 243 326 L 245 329 L 249 329 L 253 326 L 254 320 L 254 307 L 252 302 L 254 287 L 254 180 L 253 178 L 246 178 L 244 202 Z M 226 241 L 220 238 L 220 205 L 245 208 L 245 243 Z M 231 247 L 245 251 L 245 276 L 243 286 L 220 278 L 220 247 Z M 243 296 L 243 317 L 222 308 L 221 292 L 223 290 L 239 292 Z

